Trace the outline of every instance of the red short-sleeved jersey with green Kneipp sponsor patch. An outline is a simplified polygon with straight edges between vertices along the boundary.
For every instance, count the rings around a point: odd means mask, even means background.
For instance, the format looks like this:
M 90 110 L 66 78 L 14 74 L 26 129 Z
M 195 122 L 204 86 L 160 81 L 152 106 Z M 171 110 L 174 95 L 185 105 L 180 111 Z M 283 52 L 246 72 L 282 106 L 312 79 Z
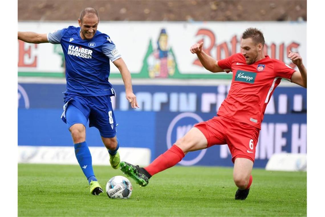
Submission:
M 258 129 L 261 129 L 266 105 L 281 78 L 291 80 L 296 71 L 269 56 L 248 65 L 241 53 L 219 60 L 218 66 L 227 73 L 232 71 L 233 76 L 227 98 L 222 102 L 217 115 Z

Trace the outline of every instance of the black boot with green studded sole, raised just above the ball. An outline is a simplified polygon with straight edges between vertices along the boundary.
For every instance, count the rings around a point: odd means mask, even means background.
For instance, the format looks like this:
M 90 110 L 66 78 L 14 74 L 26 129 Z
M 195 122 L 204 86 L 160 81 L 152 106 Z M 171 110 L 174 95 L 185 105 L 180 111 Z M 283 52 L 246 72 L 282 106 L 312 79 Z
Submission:
M 140 186 L 146 186 L 149 183 L 149 178 L 151 175 L 142 167 L 134 166 L 127 162 L 120 163 L 120 169 L 123 174 L 126 174 L 128 177 L 134 179 L 137 184 Z

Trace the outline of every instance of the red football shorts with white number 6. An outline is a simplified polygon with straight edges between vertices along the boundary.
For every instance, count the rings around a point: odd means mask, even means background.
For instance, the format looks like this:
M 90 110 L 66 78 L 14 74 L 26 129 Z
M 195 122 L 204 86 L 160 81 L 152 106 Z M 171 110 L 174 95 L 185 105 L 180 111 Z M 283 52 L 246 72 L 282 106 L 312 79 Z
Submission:
M 204 134 L 208 141 L 207 148 L 212 145 L 228 144 L 233 163 L 237 157 L 247 158 L 254 162 L 260 132 L 258 128 L 221 116 L 214 116 L 194 127 Z

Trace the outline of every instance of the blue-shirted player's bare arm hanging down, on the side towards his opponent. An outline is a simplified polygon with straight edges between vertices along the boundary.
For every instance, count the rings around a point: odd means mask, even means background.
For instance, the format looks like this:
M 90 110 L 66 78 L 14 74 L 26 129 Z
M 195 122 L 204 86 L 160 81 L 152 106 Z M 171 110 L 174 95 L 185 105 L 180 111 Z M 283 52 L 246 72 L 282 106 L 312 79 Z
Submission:
M 136 108 L 136 107 L 139 108 L 138 102 L 136 101 L 136 95 L 134 95 L 132 90 L 131 74 L 125 62 L 123 61 L 122 58 L 119 58 L 115 60 L 113 63 L 119 69 L 122 75 L 122 79 L 125 87 L 126 99 L 130 102 L 132 108 Z

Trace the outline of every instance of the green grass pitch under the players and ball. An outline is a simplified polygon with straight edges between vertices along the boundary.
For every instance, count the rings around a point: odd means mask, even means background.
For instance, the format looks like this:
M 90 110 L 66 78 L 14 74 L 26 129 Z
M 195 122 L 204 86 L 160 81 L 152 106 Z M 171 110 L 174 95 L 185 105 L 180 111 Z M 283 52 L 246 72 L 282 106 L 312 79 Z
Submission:
M 94 166 L 106 182 L 123 175 Z M 130 199 L 89 193 L 77 165 L 18 165 L 18 216 L 306 216 L 306 172 L 253 169 L 244 201 L 234 199 L 232 168 L 175 166 L 153 176 L 149 185 L 133 184 Z

